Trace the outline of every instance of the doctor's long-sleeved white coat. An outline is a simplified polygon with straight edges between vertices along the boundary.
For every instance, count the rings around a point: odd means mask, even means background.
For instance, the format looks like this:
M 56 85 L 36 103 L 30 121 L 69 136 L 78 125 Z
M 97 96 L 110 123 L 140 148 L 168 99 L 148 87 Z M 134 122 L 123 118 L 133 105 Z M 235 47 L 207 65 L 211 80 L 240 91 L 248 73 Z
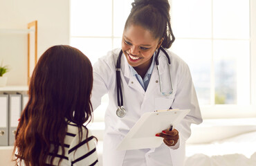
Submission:
M 124 118 L 116 116 L 118 108 L 116 90 L 116 60 L 120 49 L 112 50 L 108 55 L 101 57 L 93 65 L 93 91 L 91 102 L 93 109 L 100 105 L 102 95 L 108 93 L 109 105 L 105 113 L 105 131 L 103 145 L 103 165 L 147 165 L 182 166 L 185 159 L 185 140 L 190 137 L 190 124 L 202 122 L 196 92 L 188 65 L 174 53 L 166 50 L 171 60 L 171 76 L 173 93 L 163 96 L 160 91 L 160 82 L 156 65 L 152 72 L 147 91 L 143 89 L 136 77 L 130 71 L 125 55 L 121 59 L 121 86 L 124 107 L 127 114 Z M 159 68 L 163 91 L 170 91 L 170 74 L 167 59 L 163 51 L 159 54 Z M 117 151 L 122 138 L 134 126 L 145 112 L 159 109 L 190 109 L 188 116 L 175 128 L 179 131 L 179 142 L 175 147 L 167 147 L 164 143 L 154 149 Z M 142 160 L 132 159 L 133 156 L 143 156 Z M 125 160 L 125 163 L 123 161 Z

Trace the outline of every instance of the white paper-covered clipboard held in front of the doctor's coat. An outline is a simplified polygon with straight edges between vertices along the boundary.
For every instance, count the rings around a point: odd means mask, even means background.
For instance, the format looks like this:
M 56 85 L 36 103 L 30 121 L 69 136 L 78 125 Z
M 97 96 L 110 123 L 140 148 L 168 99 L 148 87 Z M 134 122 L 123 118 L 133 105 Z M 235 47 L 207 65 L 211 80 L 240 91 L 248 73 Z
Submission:
M 163 138 L 156 137 L 163 129 L 169 129 L 170 124 L 179 122 L 190 112 L 190 109 L 167 109 L 144 113 L 134 124 L 129 133 L 118 145 L 118 150 L 145 149 L 159 147 Z

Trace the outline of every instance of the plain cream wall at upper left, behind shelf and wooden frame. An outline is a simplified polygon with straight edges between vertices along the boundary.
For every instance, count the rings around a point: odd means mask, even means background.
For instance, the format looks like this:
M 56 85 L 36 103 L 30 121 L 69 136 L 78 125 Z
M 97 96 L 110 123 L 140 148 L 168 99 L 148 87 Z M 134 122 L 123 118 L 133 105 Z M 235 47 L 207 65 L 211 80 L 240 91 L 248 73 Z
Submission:
M 26 29 L 38 21 L 38 57 L 50 46 L 69 44 L 69 0 L 0 0 L 0 29 Z M 0 64 L 10 66 L 8 85 L 27 84 L 26 34 L 0 33 Z

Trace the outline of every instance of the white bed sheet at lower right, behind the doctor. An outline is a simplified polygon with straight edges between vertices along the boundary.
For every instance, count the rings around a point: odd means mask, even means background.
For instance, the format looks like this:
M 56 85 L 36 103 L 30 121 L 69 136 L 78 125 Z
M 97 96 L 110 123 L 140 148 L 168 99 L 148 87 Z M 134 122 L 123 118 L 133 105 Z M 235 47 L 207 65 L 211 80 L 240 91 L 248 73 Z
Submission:
M 256 166 L 256 131 L 186 147 L 185 166 L 231 165 Z

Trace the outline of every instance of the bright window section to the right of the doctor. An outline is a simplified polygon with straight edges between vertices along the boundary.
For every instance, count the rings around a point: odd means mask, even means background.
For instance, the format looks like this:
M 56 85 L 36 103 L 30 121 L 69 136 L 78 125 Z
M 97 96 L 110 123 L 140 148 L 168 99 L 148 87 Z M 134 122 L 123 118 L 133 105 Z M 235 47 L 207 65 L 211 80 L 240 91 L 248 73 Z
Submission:
M 249 0 L 172 0 L 172 50 L 190 66 L 206 117 L 252 111 L 252 5 Z

